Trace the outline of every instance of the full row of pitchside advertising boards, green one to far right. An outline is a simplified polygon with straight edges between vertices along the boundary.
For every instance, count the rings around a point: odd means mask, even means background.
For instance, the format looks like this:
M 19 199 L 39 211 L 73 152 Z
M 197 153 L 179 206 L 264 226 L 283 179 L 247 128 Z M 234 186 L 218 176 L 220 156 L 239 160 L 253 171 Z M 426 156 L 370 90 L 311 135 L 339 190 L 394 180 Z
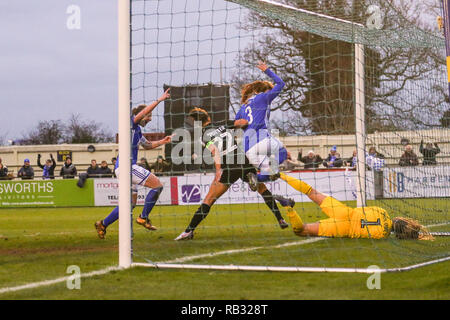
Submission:
M 356 171 L 319 169 L 289 172 L 314 188 L 338 200 L 356 199 Z M 161 205 L 198 205 L 208 193 L 213 173 L 160 177 L 164 189 Z M 115 178 L 87 179 L 83 188 L 77 179 L 0 181 L 0 208 L 8 207 L 91 207 L 116 206 L 118 182 Z M 367 171 L 367 197 L 375 198 L 435 198 L 450 197 L 450 166 L 385 168 L 383 172 Z M 296 202 L 309 198 L 281 180 L 266 183 L 273 194 L 282 194 Z M 138 205 L 144 205 L 146 191 L 138 188 Z M 238 181 L 218 204 L 262 203 L 262 198 Z

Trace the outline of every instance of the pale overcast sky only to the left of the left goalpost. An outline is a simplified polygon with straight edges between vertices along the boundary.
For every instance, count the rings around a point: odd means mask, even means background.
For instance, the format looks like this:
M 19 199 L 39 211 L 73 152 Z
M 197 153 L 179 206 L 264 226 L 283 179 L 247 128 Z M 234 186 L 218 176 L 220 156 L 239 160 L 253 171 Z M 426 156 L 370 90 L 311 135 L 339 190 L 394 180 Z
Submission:
M 81 9 L 69 30 L 67 9 Z M 0 135 L 79 113 L 117 127 L 117 10 L 106 0 L 0 2 Z

